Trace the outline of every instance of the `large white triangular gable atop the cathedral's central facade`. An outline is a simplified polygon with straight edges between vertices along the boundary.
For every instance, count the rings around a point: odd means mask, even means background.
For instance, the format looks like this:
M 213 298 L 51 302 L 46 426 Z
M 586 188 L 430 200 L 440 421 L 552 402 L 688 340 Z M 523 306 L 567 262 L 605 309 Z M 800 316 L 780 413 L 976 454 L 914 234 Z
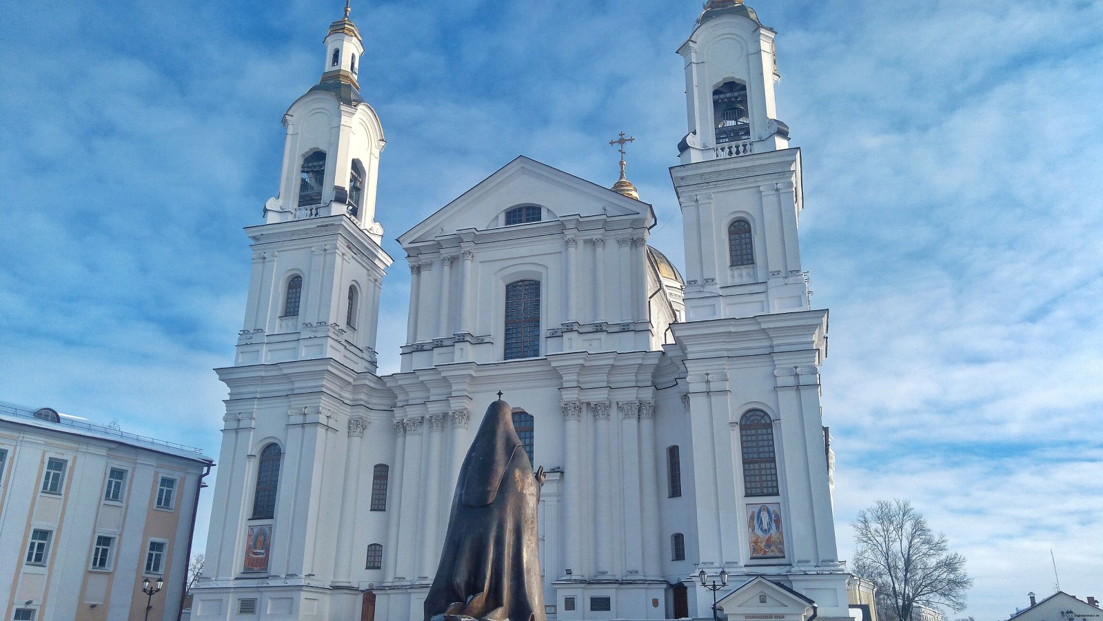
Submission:
M 398 236 L 403 246 L 461 229 L 483 231 L 503 211 L 543 205 L 555 217 L 641 216 L 654 221 L 651 205 L 635 201 L 536 160 L 520 156 L 420 224 Z

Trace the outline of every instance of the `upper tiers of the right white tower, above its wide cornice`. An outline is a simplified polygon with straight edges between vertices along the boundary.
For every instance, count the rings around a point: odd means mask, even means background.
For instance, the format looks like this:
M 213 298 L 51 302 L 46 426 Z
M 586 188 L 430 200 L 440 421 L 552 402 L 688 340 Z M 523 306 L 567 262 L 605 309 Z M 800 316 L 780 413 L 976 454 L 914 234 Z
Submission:
M 775 33 L 711 0 L 678 49 L 689 132 L 671 170 L 684 220 L 687 319 L 806 310 L 800 151 L 777 119 Z

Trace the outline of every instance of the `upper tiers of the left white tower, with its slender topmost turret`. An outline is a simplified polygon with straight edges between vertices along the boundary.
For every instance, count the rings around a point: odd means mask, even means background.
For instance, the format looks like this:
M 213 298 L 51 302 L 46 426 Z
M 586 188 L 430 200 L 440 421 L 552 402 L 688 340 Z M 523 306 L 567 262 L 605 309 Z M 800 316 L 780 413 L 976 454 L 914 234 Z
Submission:
M 237 365 L 332 357 L 376 370 L 379 288 L 392 258 L 375 221 L 375 110 L 360 94 L 364 44 L 345 6 L 324 39 L 318 84 L 283 115 L 279 194 L 253 239 L 253 275 Z

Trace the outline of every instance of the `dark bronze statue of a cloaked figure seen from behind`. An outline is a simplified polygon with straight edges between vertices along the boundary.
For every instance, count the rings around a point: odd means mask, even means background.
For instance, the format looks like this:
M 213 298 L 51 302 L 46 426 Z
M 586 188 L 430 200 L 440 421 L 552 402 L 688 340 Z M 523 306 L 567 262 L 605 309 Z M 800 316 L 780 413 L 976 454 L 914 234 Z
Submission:
M 425 621 L 546 621 L 533 473 L 510 406 L 486 408 L 456 482 Z

